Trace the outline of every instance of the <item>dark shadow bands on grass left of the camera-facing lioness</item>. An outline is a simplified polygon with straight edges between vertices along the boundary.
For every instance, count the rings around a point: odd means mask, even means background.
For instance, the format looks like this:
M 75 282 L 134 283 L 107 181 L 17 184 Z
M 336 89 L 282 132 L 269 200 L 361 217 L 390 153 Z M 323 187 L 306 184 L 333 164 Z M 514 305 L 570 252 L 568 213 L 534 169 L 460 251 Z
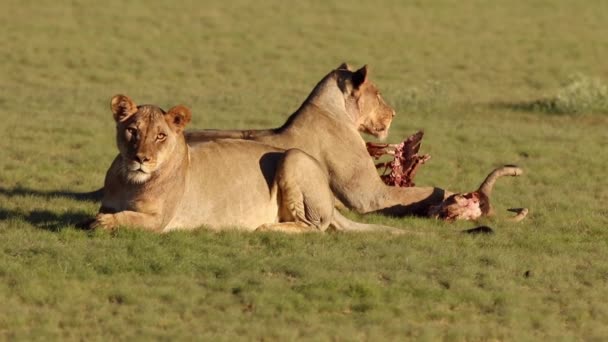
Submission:
M 53 198 L 68 198 L 77 201 L 99 201 L 102 197 L 102 189 L 92 192 L 72 192 L 64 190 L 40 191 L 26 189 L 22 187 L 7 189 L 0 187 L 0 196 L 33 196 L 44 200 Z M 23 220 L 39 229 L 57 232 L 68 226 L 75 226 L 83 229 L 83 222 L 91 219 L 91 214 L 84 211 L 69 210 L 64 213 L 57 213 L 50 210 L 34 209 L 30 212 L 18 210 L 8 210 L 0 208 L 0 221 Z

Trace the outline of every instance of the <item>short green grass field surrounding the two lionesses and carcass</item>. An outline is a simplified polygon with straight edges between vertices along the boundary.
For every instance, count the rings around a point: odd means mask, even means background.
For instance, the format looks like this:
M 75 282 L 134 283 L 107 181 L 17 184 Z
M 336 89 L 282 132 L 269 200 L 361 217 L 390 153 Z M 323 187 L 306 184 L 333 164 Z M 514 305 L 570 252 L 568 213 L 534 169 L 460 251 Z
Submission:
M 0 3 L 0 339 L 608 339 L 608 2 Z M 109 99 L 193 109 L 191 128 L 277 126 L 343 61 L 417 129 L 417 184 L 471 190 L 425 234 L 153 235 L 74 228 L 115 156 Z M 504 209 L 530 208 L 525 221 Z

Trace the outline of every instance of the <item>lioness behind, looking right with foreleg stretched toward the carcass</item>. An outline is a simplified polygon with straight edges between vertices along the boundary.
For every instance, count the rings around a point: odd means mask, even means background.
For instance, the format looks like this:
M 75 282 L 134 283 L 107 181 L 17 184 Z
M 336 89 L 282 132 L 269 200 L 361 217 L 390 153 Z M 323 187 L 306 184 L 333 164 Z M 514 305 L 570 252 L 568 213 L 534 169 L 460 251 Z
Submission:
M 186 141 L 195 144 L 238 138 L 282 149 L 298 148 L 319 161 L 320 167 L 329 174 L 334 195 L 348 208 L 359 213 L 435 216 L 438 206 L 454 194 L 435 187 L 385 185 L 359 134 L 365 132 L 385 138 L 394 116 L 394 109 L 384 102 L 378 88 L 369 80 L 367 66 L 352 71 L 342 64 L 315 86 L 300 108 L 279 128 L 190 131 L 186 132 Z M 506 174 L 517 173 L 501 175 Z M 461 202 L 444 207 L 457 211 L 457 204 Z M 462 203 L 468 205 L 468 201 Z

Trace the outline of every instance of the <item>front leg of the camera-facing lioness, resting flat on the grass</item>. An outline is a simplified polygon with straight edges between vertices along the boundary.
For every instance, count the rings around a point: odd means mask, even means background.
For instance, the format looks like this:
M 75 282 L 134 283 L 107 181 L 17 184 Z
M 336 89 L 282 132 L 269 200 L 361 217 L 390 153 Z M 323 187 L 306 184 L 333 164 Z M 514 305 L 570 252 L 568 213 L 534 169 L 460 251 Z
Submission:
M 158 215 L 135 211 L 121 211 L 114 214 L 99 213 L 90 227 L 111 230 L 119 226 L 137 227 L 154 232 L 161 231 L 161 222 Z

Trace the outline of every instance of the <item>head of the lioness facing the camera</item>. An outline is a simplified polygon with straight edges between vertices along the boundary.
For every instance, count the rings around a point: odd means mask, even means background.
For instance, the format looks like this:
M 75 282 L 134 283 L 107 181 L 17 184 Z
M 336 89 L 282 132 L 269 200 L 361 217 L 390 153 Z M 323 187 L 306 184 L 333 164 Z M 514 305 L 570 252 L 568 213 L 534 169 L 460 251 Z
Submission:
M 152 105 L 137 106 L 125 95 L 111 102 L 116 121 L 116 144 L 128 182 L 144 183 L 184 144 L 183 130 L 192 116 L 190 109 L 176 106 L 165 112 Z

